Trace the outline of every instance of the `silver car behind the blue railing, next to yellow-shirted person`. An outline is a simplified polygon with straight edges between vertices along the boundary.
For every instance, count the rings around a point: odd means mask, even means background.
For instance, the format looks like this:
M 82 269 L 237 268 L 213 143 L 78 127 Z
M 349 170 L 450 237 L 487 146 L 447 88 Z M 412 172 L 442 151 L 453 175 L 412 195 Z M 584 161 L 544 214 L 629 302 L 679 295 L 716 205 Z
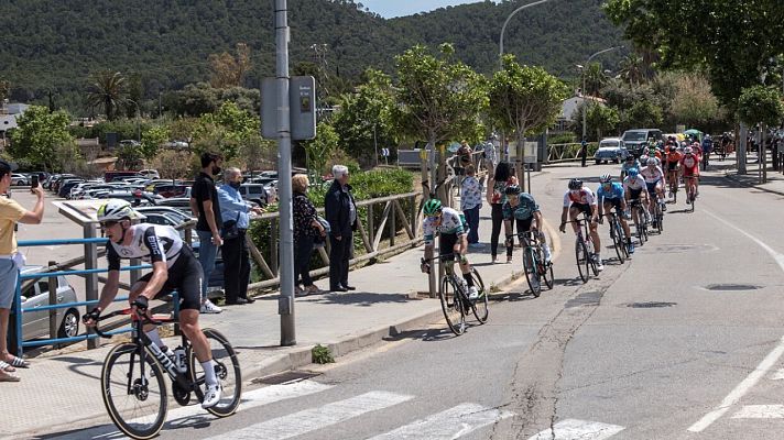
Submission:
M 42 266 L 25 266 L 22 274 L 41 272 Z M 48 306 L 48 278 L 29 279 L 22 284 L 22 308 L 35 309 Z M 64 276 L 57 277 L 57 304 L 76 302 L 76 290 Z M 79 310 L 76 307 L 56 309 L 57 338 L 73 338 L 79 334 Z M 48 338 L 48 310 L 22 314 L 22 336 L 24 340 Z

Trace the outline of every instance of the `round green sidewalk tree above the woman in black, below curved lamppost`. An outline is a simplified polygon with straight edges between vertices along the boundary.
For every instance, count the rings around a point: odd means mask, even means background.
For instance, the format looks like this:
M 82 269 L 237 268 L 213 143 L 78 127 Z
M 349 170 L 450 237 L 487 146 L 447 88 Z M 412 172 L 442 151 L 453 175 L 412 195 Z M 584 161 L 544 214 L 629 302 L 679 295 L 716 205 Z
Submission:
M 503 70 L 490 81 L 489 114 L 499 128 L 514 131 L 518 162 L 522 164 L 525 135 L 545 130 L 560 113 L 568 88 L 542 67 L 521 66 L 514 55 L 504 55 Z M 523 167 L 516 167 L 523 183 Z

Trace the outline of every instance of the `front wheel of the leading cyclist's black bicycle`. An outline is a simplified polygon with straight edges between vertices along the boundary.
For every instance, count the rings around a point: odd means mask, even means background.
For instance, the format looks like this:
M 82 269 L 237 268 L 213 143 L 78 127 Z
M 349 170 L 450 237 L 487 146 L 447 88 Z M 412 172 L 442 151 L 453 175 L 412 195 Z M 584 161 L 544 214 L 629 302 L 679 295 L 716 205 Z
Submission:
M 111 421 L 128 437 L 150 439 L 166 421 L 165 374 L 149 354 L 140 360 L 137 344 L 123 343 L 111 349 L 101 370 L 101 396 Z

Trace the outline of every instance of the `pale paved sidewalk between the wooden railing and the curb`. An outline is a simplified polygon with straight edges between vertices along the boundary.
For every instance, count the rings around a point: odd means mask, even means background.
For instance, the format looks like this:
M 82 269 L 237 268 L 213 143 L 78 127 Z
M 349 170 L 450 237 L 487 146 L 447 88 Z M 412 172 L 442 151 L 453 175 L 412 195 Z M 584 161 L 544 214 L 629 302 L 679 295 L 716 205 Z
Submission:
M 541 175 L 533 175 L 534 186 L 544 186 L 545 178 Z M 489 243 L 491 221 L 487 204 L 479 224 L 480 241 Z M 548 232 L 552 234 L 552 229 Z M 471 262 L 479 268 L 487 288 L 499 287 L 512 279 L 516 266 L 490 264 L 489 248 L 486 244 L 484 250 L 472 250 Z M 203 315 L 202 327 L 216 328 L 231 341 L 239 354 L 243 382 L 309 364 L 311 349 L 317 343 L 329 345 L 337 358 L 386 337 L 423 329 L 443 321 L 443 316 L 437 298 L 415 295 L 428 289 L 427 277 L 420 273 L 422 250 L 420 246 L 352 271 L 349 282 L 357 286 L 356 292 L 296 298 L 295 346 L 279 346 L 277 295 L 259 297 L 252 305 L 226 307 L 220 315 Z M 501 246 L 499 254 L 503 256 L 504 252 Z M 518 256 L 519 252 L 515 250 Z M 328 282 L 322 279 L 316 284 L 327 287 Z M 99 378 L 104 358 L 116 342 L 105 341 L 97 350 L 31 359 L 30 370 L 18 370 L 22 382 L 0 384 L 3 397 L 0 438 L 30 438 L 36 432 L 110 424 Z M 175 339 L 171 341 L 177 343 Z

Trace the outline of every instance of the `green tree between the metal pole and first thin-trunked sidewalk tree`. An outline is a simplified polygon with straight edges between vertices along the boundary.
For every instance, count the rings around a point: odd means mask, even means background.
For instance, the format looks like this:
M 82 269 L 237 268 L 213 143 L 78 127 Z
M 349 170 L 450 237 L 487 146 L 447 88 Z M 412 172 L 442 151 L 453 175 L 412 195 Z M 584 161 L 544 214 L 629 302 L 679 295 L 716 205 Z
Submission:
M 340 111 L 333 125 L 344 150 L 358 158 L 375 157 L 375 145 L 381 147 L 395 141 L 392 109 L 395 106 L 392 81 L 379 70 L 366 73 L 368 81 L 352 94 L 342 96 Z M 377 163 L 378 157 L 373 163 Z

